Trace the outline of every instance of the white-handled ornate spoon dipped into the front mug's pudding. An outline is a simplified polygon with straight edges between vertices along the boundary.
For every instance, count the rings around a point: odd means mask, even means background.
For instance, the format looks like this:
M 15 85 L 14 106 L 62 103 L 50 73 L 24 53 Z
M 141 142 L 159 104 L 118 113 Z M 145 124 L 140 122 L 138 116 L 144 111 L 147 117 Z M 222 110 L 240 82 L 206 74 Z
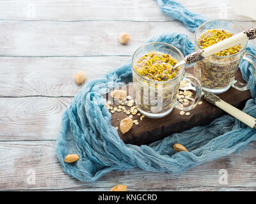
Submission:
M 200 61 L 200 60 L 204 59 L 205 57 L 208 57 L 212 54 L 220 52 L 221 50 L 225 50 L 225 49 L 233 47 L 239 43 L 243 43 L 248 40 L 253 40 L 255 38 L 256 38 L 256 28 L 251 27 L 251 28 L 247 29 L 246 31 L 235 34 L 234 36 L 231 36 L 230 38 L 220 41 L 219 43 L 211 45 L 202 50 L 197 50 L 195 52 L 192 52 L 191 54 L 187 55 L 184 60 L 175 64 L 175 66 L 173 66 L 173 69 L 176 69 L 178 66 L 180 66 L 182 64 L 191 64 L 193 62 Z

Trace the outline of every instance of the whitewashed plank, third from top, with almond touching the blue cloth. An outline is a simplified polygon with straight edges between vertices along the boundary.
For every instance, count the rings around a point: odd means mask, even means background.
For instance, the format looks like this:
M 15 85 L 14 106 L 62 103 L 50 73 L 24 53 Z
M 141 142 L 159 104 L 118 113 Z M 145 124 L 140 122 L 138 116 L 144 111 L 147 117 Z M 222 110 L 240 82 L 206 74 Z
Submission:
M 130 58 L 0 57 L 0 97 L 76 96 L 84 84 L 102 77 Z M 86 82 L 77 85 L 74 74 L 81 70 L 86 72 Z

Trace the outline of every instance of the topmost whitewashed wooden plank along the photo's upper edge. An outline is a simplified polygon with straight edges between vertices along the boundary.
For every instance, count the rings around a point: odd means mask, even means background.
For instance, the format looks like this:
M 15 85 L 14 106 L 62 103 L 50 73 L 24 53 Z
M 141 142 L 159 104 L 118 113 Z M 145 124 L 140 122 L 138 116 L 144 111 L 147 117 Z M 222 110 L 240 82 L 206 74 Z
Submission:
M 210 19 L 227 18 L 250 20 L 237 15 L 230 1 L 179 0 L 191 11 L 201 13 Z M 12 20 L 173 20 L 159 10 L 156 1 L 148 0 L 5 0 L 0 2 L 0 18 Z

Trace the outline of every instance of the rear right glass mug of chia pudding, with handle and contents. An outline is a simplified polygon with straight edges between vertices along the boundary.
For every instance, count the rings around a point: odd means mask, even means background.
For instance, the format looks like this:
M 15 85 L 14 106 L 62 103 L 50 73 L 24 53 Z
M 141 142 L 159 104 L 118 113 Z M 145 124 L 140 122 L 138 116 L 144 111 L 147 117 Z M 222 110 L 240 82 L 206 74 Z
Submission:
M 240 33 L 244 29 L 229 20 L 211 20 L 200 25 L 195 32 L 195 50 L 204 49 L 222 40 Z M 194 75 L 202 84 L 205 91 L 220 94 L 231 86 L 244 91 L 253 84 L 237 82 L 236 73 L 241 59 L 255 63 L 248 56 L 255 59 L 245 51 L 247 42 L 222 50 L 214 55 L 195 62 Z M 254 70 L 253 70 L 254 71 Z

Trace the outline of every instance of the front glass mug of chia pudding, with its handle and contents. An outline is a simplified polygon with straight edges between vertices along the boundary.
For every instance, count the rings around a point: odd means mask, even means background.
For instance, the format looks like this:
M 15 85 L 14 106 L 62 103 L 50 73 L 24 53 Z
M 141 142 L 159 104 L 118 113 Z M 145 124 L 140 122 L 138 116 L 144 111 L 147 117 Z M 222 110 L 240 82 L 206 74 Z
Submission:
M 191 110 L 200 101 L 202 87 L 196 77 L 185 73 L 184 65 L 173 69 L 182 59 L 184 55 L 180 50 L 167 43 L 148 43 L 136 50 L 132 57 L 134 101 L 143 115 L 160 118 L 174 107 Z M 191 84 L 189 89 L 195 92 L 195 98 L 184 105 L 180 105 L 177 98 L 181 81 Z

